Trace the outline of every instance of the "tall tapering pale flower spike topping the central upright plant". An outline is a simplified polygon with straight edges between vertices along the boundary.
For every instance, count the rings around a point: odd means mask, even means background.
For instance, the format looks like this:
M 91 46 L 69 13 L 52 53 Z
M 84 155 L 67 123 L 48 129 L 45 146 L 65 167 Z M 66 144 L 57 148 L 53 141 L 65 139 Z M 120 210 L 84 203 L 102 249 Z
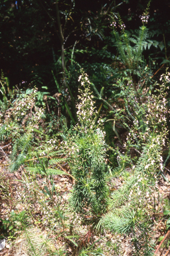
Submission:
M 68 155 L 75 156 L 80 151 L 80 145 L 76 143 L 78 137 L 92 137 L 92 135 L 98 135 L 101 141 L 104 141 L 106 135 L 105 131 L 102 129 L 103 120 L 98 119 L 98 111 L 94 107 L 94 96 L 90 91 L 90 81 L 88 75 L 82 72 L 82 75 L 78 78 L 81 81 L 82 89 L 79 89 L 78 101 L 76 105 L 78 123 L 74 126 L 72 135 L 68 135 L 68 141 L 62 144 L 62 148 L 68 150 Z

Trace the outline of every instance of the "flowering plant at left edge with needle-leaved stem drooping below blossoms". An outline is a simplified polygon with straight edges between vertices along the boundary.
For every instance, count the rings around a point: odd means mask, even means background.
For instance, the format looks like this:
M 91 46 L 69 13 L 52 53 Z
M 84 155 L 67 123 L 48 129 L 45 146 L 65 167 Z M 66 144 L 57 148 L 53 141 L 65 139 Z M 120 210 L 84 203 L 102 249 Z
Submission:
M 0 141 L 11 139 L 11 171 L 16 171 L 30 157 L 29 151 L 36 141 L 35 130 L 39 130 L 45 117 L 44 107 L 37 107 L 37 88 L 19 90 L 13 94 L 9 107 L 0 110 Z

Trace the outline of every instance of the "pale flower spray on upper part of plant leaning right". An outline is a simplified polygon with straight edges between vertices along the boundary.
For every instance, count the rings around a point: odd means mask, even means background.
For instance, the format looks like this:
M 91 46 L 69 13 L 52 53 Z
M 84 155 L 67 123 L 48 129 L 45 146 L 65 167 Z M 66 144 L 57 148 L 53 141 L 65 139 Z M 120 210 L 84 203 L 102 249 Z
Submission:
M 129 131 L 124 147 L 130 148 L 131 145 L 136 148 L 142 148 L 147 145 L 147 151 L 143 154 L 147 155 L 143 161 L 143 171 L 147 175 L 154 175 L 157 171 L 163 171 L 163 157 L 161 152 L 165 147 L 165 139 L 167 139 L 167 99 L 165 98 L 166 83 L 169 81 L 169 73 L 161 75 L 163 83 L 159 89 L 156 89 L 157 94 L 150 95 L 143 102 L 141 113 L 142 119 L 137 116 L 133 118 L 133 125 Z M 139 127 L 142 127 L 140 129 Z M 140 152 L 139 152 L 140 153 Z

